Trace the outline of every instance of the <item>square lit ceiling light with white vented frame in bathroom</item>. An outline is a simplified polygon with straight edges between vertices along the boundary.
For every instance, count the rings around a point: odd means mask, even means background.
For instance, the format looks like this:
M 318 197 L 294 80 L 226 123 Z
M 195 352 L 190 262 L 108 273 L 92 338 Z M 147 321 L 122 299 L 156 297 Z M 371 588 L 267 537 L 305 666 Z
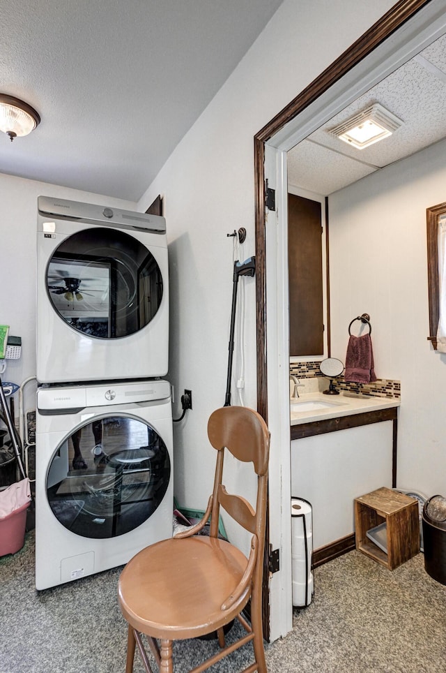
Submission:
M 379 103 L 375 103 L 371 105 L 371 108 L 358 112 L 354 117 L 330 129 L 330 133 L 344 140 L 348 145 L 364 149 L 392 135 L 402 124 L 401 119 L 395 117 Z

